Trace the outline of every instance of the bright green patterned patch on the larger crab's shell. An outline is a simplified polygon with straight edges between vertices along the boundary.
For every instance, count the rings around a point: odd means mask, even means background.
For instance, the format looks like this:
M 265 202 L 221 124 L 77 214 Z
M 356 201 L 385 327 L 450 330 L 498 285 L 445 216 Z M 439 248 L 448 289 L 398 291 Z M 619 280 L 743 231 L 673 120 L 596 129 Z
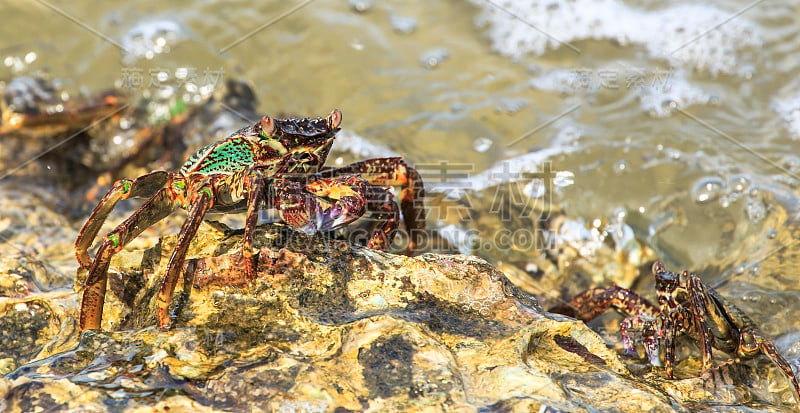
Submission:
M 209 145 L 189 158 L 181 171 L 234 173 L 255 162 L 250 143 L 244 139 L 228 139 Z

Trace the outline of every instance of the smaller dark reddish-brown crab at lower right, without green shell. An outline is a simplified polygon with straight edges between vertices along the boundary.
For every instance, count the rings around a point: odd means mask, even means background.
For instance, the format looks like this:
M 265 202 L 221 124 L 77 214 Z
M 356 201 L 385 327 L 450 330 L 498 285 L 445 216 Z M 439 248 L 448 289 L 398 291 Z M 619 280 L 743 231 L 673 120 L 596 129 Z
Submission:
M 800 386 L 792 367 L 747 315 L 693 273 L 667 271 L 661 262 L 653 264 L 652 272 L 658 306 L 614 285 L 592 288 L 549 311 L 588 322 L 609 307 L 615 309 L 626 317 L 620 323 L 625 351 L 635 355 L 636 341 L 641 340 L 650 363 L 659 366 L 663 350 L 668 378 L 673 378 L 675 339 L 681 334 L 700 342 L 704 372 L 711 368 L 712 348 L 737 359 L 764 354 L 789 377 L 800 402 Z

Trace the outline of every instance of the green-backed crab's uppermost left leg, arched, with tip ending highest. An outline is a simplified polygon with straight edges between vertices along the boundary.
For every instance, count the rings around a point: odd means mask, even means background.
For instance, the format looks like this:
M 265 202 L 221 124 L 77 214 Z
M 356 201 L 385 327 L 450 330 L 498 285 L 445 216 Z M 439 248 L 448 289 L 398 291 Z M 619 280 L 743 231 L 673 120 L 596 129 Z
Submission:
M 89 219 L 86 220 L 86 224 L 81 228 L 78 239 L 75 241 L 75 255 L 81 268 L 89 268 L 92 264 L 88 253 L 89 247 L 92 246 L 92 242 L 103 226 L 103 222 L 108 218 L 108 214 L 114 210 L 117 202 L 130 197 L 152 197 L 156 191 L 164 187 L 169 178 L 170 174 L 168 172 L 156 171 L 136 179 L 120 179 L 114 183 L 114 186 L 103 196 L 103 199 L 94 208 L 92 214 L 89 215 Z

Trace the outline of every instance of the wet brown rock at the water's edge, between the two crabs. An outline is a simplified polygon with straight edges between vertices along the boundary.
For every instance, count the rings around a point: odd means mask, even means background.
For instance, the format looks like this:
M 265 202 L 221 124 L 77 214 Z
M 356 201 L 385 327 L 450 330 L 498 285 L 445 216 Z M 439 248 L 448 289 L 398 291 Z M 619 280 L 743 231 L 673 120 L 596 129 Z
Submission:
M 524 185 L 512 182 L 456 200 L 445 197 L 437 200 L 430 218 L 440 223 L 438 235 L 451 248 L 496 263 L 544 308 L 592 287 L 631 287 L 641 273 L 649 273 L 658 258 L 655 251 L 619 218 L 586 222 L 551 201 L 525 197 Z

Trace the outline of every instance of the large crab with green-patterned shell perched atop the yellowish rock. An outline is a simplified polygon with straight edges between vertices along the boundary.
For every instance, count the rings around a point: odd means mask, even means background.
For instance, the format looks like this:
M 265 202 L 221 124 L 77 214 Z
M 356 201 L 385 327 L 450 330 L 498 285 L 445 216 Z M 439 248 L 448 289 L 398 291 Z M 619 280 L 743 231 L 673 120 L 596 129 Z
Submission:
M 200 149 L 178 172 L 155 171 L 117 181 L 95 207 L 75 243 L 78 262 L 88 268 L 80 328 L 100 328 L 111 257 L 179 207 L 189 215 L 159 291 L 161 328 L 169 327 L 169 302 L 189 242 L 207 212 L 247 212 L 241 254 L 246 276 L 252 280 L 257 261 L 253 233 L 260 208 L 277 209 L 287 225 L 307 233 L 342 227 L 369 212 L 377 224 L 366 245 L 383 249 L 392 242 L 400 215 L 389 186 L 401 186 L 400 209 L 409 232 L 408 248 L 413 251 L 425 226 L 419 174 L 402 158 L 368 159 L 341 168 L 323 166 L 341 121 L 338 109 L 327 118 L 264 116 Z M 88 249 L 106 217 L 118 201 L 130 197 L 149 199 L 103 237 L 91 260 Z

